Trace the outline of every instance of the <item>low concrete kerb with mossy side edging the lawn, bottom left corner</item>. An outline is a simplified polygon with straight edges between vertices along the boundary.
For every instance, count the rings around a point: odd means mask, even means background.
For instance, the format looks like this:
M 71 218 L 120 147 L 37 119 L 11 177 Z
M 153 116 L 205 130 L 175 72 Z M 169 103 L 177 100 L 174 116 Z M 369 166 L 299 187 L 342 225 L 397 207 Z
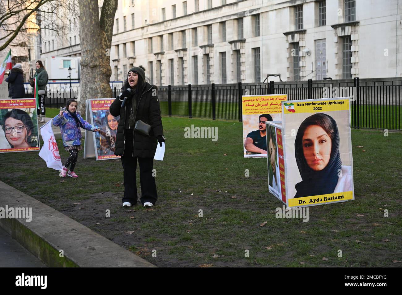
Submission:
M 0 226 L 51 267 L 155 267 L 55 209 L 0 181 L 0 207 L 32 208 L 32 220 L 0 218 Z M 60 250 L 63 250 L 63 257 Z

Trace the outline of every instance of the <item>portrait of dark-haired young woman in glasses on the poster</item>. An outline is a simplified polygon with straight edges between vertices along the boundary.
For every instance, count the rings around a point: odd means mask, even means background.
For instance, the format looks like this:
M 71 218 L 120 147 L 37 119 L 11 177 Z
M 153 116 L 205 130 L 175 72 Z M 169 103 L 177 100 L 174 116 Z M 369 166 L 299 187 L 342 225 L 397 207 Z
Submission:
M 2 125 L 12 149 L 38 146 L 32 119 L 23 110 L 13 109 L 6 113 Z

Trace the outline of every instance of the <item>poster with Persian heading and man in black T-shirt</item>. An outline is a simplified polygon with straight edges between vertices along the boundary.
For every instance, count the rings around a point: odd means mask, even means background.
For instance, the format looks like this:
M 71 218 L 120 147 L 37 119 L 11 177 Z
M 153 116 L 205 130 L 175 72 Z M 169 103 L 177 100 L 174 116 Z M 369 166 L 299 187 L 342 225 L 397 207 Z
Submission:
M 267 157 L 266 121 L 281 121 L 281 102 L 286 94 L 243 95 L 244 158 Z

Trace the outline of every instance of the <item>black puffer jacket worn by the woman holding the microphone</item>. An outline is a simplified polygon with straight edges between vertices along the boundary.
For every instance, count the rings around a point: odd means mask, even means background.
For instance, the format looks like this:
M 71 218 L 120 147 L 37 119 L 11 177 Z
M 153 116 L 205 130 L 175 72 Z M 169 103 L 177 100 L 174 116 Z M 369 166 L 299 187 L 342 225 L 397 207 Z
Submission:
M 141 120 L 144 123 L 151 125 L 150 135 L 142 135 L 138 132 L 134 132 L 133 143 L 133 157 L 140 158 L 154 158 L 156 145 L 158 143 L 156 137 L 163 135 L 162 117 L 160 116 L 160 106 L 157 95 L 158 88 L 155 85 L 145 83 L 144 90 L 137 102 L 137 111 L 135 114 L 135 120 Z M 131 97 L 131 99 L 134 99 Z M 129 118 L 129 100 L 124 107 L 121 107 L 121 101 L 119 97 L 111 104 L 109 110 L 110 113 L 117 117 L 120 115 L 119 125 L 117 126 L 116 135 L 116 148 L 115 155 L 123 156 L 127 151 L 124 150 L 125 140 L 125 119 Z M 128 131 L 128 129 L 127 129 Z

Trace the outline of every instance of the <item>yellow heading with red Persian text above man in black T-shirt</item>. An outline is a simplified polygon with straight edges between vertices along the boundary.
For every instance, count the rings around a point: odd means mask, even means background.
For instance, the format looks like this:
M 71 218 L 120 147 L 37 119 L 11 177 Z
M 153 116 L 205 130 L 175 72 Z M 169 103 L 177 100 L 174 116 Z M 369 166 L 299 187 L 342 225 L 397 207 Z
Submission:
M 286 94 L 242 96 L 243 115 L 262 115 L 282 113 L 282 100 Z

